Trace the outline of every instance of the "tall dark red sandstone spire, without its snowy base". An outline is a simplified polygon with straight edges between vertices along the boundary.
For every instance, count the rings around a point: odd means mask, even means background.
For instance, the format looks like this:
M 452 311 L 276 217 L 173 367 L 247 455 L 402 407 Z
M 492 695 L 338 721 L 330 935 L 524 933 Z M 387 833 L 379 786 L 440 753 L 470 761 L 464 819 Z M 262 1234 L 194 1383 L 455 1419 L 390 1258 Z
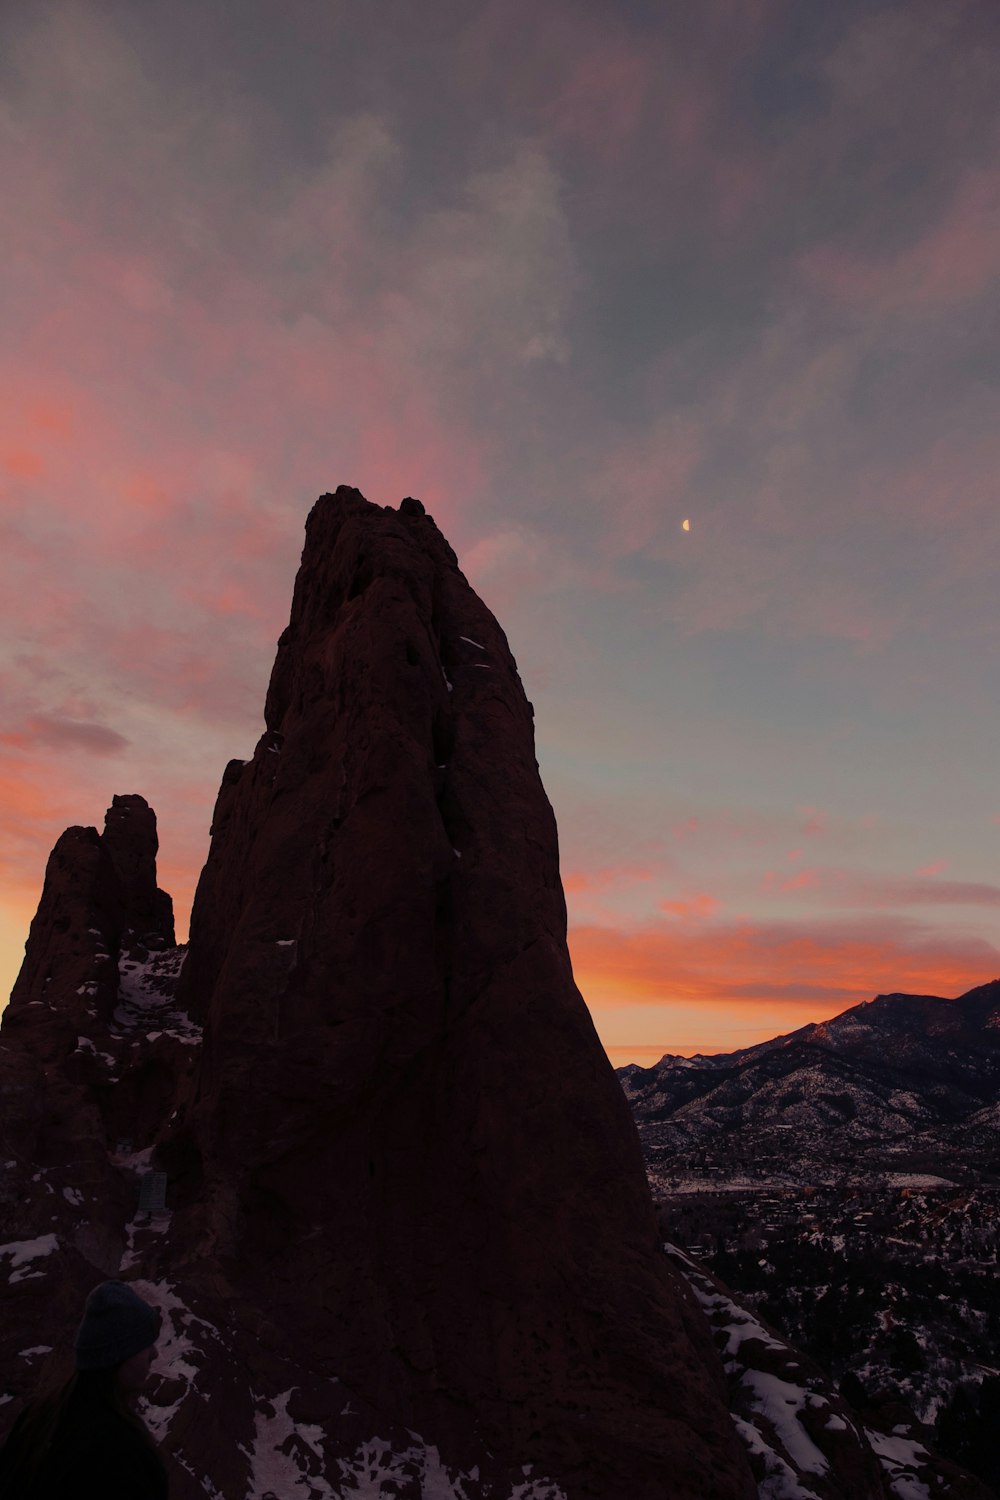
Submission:
M 750 1492 L 573 982 L 531 705 L 415 501 L 309 516 L 181 986 L 205 1250 L 310 1364 L 570 1496 Z

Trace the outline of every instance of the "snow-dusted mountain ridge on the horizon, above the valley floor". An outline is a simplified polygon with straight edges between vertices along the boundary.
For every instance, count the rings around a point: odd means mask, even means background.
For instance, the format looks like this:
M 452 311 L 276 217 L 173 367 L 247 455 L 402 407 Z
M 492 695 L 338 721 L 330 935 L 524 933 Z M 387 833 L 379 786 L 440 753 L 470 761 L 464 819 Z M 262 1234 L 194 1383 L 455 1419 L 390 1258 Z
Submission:
M 1000 981 L 954 1000 L 879 994 L 756 1047 L 666 1056 L 619 1078 L 654 1176 L 706 1150 L 796 1172 L 859 1155 L 924 1156 L 930 1170 L 973 1154 L 1000 1168 Z

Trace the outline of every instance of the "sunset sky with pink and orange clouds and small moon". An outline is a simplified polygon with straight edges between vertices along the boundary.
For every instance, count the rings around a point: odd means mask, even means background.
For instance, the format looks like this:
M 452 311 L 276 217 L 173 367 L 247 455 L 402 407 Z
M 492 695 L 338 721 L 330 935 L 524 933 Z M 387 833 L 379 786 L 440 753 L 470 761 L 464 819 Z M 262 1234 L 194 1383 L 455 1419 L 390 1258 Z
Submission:
M 114 794 L 186 930 L 342 483 L 507 630 L 616 1065 L 1000 975 L 999 69 L 996 0 L 3 8 L 0 993 Z

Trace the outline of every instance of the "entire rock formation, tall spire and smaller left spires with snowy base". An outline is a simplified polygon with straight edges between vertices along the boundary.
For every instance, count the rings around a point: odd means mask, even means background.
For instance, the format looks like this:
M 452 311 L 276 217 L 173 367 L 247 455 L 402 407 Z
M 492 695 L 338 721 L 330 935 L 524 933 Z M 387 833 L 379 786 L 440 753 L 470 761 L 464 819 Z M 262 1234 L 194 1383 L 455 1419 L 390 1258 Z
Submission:
M 418 501 L 316 502 L 265 723 L 175 996 L 138 800 L 52 855 L 0 1042 L 4 1096 L 34 1070 L 61 1122 L 0 1118 L 4 1389 L 120 1272 L 165 1314 L 181 1500 L 753 1496 L 573 982 L 531 705 Z

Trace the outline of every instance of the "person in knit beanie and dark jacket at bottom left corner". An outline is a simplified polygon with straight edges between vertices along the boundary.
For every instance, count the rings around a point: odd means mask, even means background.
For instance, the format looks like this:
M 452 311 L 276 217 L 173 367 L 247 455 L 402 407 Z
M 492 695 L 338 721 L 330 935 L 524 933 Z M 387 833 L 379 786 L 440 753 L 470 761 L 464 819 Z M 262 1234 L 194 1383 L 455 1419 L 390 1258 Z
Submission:
M 87 1298 L 76 1371 L 28 1402 L 0 1449 L 3 1500 L 166 1500 L 166 1470 L 132 1402 L 142 1390 L 160 1314 L 124 1281 Z

